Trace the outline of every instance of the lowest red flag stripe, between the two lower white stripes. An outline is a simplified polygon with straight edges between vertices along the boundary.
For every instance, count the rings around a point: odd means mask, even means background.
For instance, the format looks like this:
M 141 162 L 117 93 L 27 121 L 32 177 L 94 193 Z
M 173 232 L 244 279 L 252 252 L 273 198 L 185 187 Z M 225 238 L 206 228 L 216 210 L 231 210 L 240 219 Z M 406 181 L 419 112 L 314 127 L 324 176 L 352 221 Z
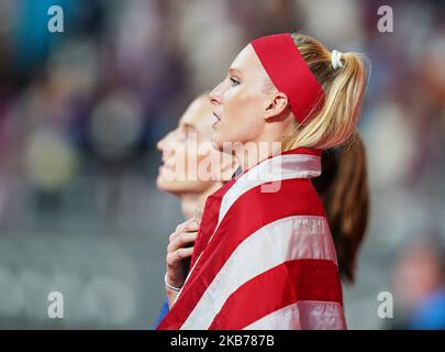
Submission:
M 343 304 L 334 262 L 293 260 L 256 276 L 229 297 L 210 329 L 240 330 L 299 300 Z

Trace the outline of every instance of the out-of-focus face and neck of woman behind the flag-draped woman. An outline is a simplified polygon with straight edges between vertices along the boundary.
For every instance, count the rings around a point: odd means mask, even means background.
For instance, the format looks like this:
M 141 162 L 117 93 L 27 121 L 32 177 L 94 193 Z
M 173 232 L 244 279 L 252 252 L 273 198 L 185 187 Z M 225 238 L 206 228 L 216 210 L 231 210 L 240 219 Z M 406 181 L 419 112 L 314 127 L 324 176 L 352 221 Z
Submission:
M 163 154 L 156 179 L 157 188 L 179 198 L 182 215 L 189 221 L 199 221 L 207 197 L 219 189 L 224 180 L 231 179 L 235 168 L 232 164 L 234 160 L 224 160 L 221 153 L 210 145 L 213 132 L 212 113 L 213 106 L 208 95 L 200 95 L 186 109 L 175 130 L 157 143 L 157 148 Z M 196 142 L 196 148 L 191 147 L 193 144 L 190 142 Z M 205 144 L 209 144 L 209 147 Z M 207 175 L 207 179 L 198 177 L 198 168 L 209 160 L 221 167 Z M 194 169 L 191 169 L 193 167 Z M 212 170 L 209 169 L 210 172 Z M 182 264 L 187 270 L 188 261 Z M 166 301 L 156 327 L 167 312 Z

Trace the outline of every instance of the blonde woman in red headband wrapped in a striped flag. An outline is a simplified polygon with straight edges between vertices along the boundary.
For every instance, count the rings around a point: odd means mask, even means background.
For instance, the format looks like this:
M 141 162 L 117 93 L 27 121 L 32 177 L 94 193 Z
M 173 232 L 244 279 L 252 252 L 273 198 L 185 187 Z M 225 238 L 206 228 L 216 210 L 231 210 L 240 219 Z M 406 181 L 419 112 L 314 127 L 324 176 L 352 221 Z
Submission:
M 346 329 L 334 223 L 311 178 L 323 151 L 355 135 L 365 82 L 358 54 L 303 34 L 260 37 L 238 54 L 210 99 L 212 142 L 223 152 L 232 143 L 243 173 L 208 198 L 193 249 L 196 224 L 171 234 L 171 309 L 159 329 Z M 360 221 L 343 226 L 346 239 Z M 355 243 L 345 253 L 352 260 Z

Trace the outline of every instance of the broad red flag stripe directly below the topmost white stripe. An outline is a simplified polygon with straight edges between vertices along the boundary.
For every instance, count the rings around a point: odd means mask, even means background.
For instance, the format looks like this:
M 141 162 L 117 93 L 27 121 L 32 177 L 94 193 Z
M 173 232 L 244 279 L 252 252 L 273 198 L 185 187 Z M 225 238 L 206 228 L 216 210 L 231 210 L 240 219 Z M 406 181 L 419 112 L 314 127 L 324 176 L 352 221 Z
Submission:
M 293 215 L 325 216 L 309 179 L 281 180 L 280 187 L 277 193 L 262 193 L 262 186 L 255 187 L 233 204 L 158 329 L 182 326 L 232 252 L 252 233 L 269 222 Z

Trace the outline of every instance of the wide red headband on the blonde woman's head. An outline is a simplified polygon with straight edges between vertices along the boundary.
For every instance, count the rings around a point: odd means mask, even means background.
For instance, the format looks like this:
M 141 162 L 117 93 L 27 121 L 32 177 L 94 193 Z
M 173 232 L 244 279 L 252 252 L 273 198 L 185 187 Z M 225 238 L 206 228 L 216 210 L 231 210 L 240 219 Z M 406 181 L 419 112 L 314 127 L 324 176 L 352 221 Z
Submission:
M 298 122 L 302 123 L 320 99 L 324 98 L 324 91 L 291 35 L 267 35 L 251 44 L 275 87 L 288 96 L 290 109 Z

